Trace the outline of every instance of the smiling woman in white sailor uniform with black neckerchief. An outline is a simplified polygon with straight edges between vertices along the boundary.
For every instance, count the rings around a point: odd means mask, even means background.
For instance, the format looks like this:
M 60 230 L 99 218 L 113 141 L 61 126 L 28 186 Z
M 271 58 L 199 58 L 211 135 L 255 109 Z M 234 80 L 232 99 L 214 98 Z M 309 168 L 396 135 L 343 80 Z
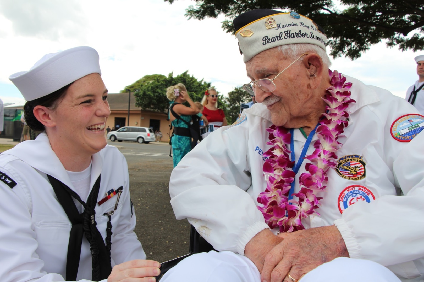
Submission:
M 2 282 L 159 274 L 133 231 L 126 160 L 106 143 L 100 74 L 96 50 L 75 47 L 9 77 L 28 101 L 26 122 L 43 133 L 0 155 Z

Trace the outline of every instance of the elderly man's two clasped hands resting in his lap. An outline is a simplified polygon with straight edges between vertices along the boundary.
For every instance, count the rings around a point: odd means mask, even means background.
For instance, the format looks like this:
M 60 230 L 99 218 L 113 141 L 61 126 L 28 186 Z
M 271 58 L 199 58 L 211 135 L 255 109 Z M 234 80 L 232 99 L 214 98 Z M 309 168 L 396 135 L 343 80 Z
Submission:
M 245 256 L 259 269 L 262 282 L 296 282 L 336 257 L 349 257 L 335 225 L 274 235 L 265 229 L 245 247 Z

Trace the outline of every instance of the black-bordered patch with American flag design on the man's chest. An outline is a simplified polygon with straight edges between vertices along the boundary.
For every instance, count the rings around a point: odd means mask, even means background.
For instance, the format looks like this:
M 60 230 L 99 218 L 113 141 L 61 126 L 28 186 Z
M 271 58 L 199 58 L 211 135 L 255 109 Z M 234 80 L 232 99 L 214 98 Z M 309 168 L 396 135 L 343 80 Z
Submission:
M 365 178 L 365 164 L 363 156 L 344 156 L 337 160 L 336 172 L 345 179 L 361 180 Z

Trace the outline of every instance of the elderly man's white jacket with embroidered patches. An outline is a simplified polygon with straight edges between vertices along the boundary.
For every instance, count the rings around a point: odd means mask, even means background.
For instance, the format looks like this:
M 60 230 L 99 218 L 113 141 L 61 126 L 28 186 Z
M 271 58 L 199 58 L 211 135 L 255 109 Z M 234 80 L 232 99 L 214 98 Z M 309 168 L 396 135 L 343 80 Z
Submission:
M 351 77 L 347 81 L 352 82 L 351 98 L 356 103 L 349 105 L 349 126 L 345 137 L 339 138 L 343 147 L 337 152 L 338 167 L 327 173 L 327 192 L 318 194 L 324 197 L 317 209 L 320 216 L 310 216 L 303 224 L 306 228 L 335 224 L 350 257 L 381 263 L 399 277 L 420 277 L 424 273 L 424 260 L 420 260 L 424 257 L 424 191 L 416 188 L 414 197 L 397 196 L 408 196 L 411 185 L 399 185 L 393 167 L 409 144 L 403 141 L 416 135 L 402 133 L 405 120 L 419 122 L 424 117 L 387 90 Z M 266 145 L 266 129 L 271 125 L 266 107 L 255 104 L 234 125 L 200 142 L 172 172 L 170 195 L 176 218 L 188 218 L 217 250 L 244 254 L 248 241 L 269 228 L 256 199 L 266 188 L 262 154 L 271 147 Z M 399 136 L 401 129 L 404 135 Z M 298 129 L 293 138 L 297 161 L 306 138 Z M 307 155 L 314 151 L 315 140 L 316 135 Z M 411 158 L 408 162 L 422 168 Z M 307 160 L 296 175 L 295 193 L 305 164 Z M 422 278 L 416 279 L 404 281 Z

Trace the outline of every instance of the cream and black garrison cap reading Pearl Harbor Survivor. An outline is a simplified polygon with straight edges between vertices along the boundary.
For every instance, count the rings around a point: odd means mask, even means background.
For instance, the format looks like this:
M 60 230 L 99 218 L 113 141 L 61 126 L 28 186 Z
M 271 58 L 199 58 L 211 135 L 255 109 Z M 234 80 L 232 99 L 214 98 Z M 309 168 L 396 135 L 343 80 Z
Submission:
M 324 30 L 295 12 L 257 9 L 240 14 L 233 24 L 245 63 L 262 51 L 285 44 L 310 43 L 326 50 Z

